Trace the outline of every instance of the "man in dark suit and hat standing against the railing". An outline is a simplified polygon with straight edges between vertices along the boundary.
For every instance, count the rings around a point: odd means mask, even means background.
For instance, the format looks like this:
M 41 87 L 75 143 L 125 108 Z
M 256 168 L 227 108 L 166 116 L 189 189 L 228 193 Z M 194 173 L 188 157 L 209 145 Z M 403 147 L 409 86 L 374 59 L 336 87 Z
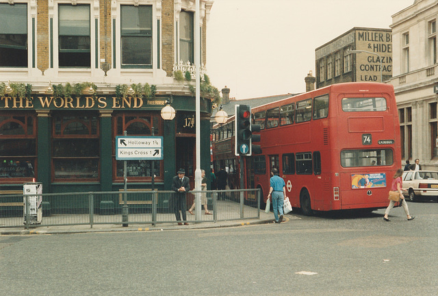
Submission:
M 183 214 L 184 225 L 189 225 L 187 223 L 187 217 L 185 211 L 187 210 L 187 202 L 185 201 L 185 193 L 190 190 L 189 178 L 185 177 L 184 169 L 179 169 L 178 175 L 173 177 L 172 180 L 172 190 L 175 194 L 172 196 L 172 206 L 175 211 L 175 217 L 177 221 L 181 221 L 181 216 L 179 211 Z M 178 222 L 178 225 L 183 225 L 183 223 Z

